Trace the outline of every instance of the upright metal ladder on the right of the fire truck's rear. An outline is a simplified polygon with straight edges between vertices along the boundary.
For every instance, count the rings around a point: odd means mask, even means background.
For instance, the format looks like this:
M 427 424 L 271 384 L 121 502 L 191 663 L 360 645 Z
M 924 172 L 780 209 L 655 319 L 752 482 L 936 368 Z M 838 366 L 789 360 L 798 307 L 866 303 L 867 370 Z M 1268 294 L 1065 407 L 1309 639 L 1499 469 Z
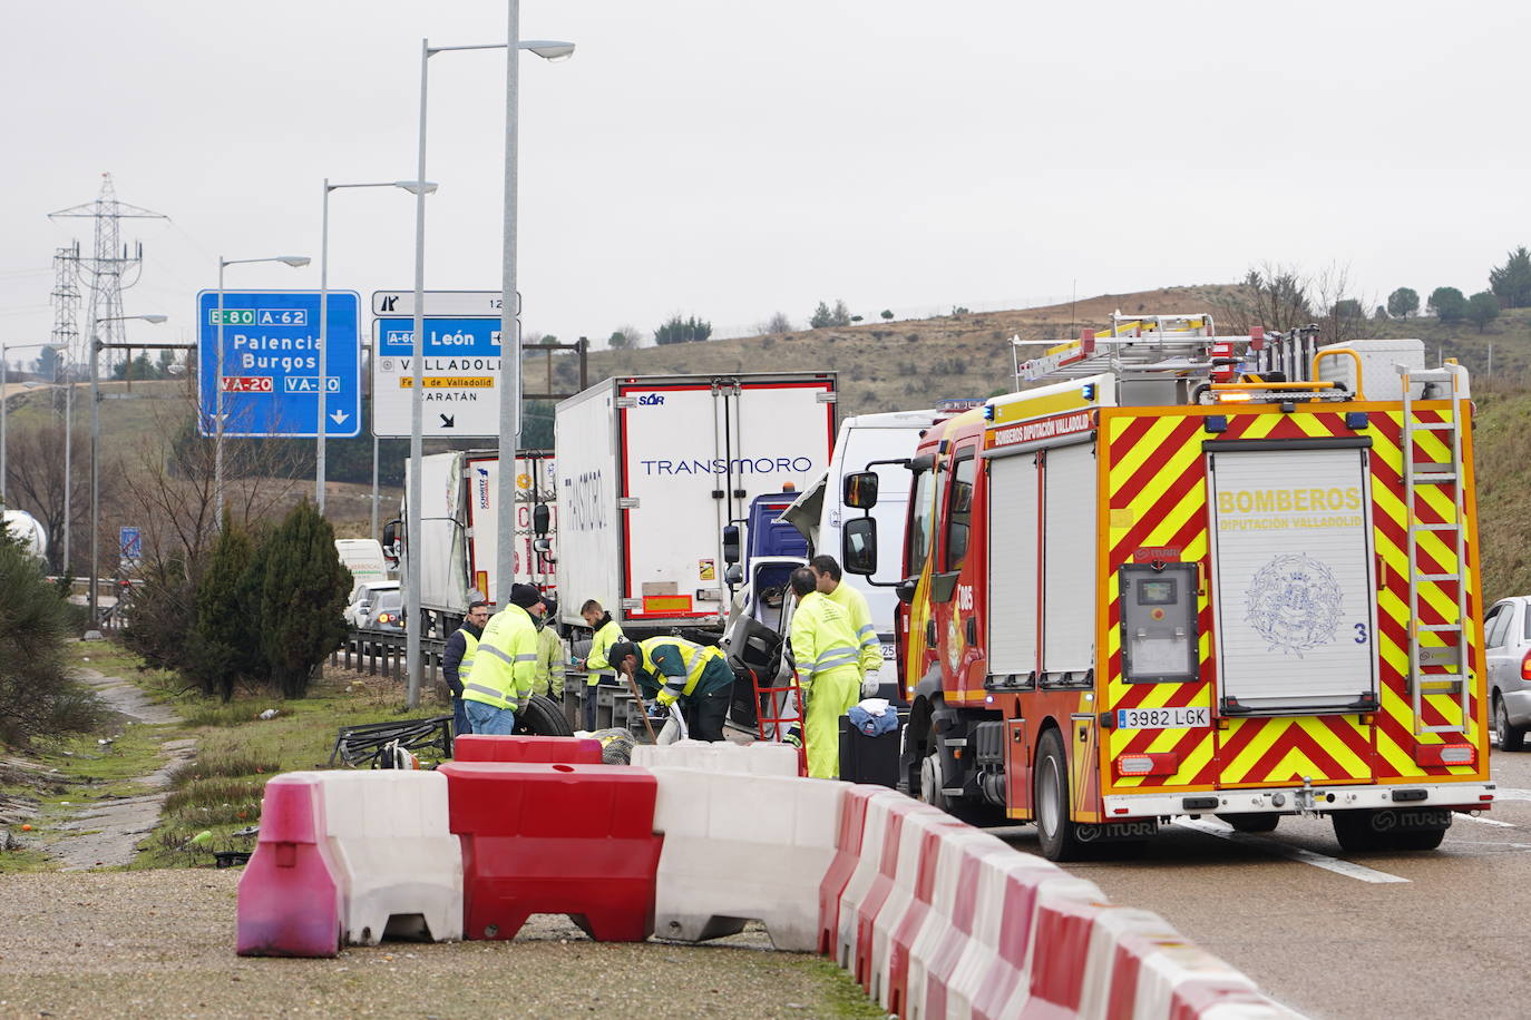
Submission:
M 1409 547 L 1409 688 L 1413 697 L 1415 710 L 1415 733 L 1462 733 L 1467 729 L 1468 711 L 1471 708 L 1471 682 L 1468 677 L 1468 622 L 1467 615 L 1467 500 L 1464 488 L 1464 465 L 1462 465 L 1462 388 L 1465 385 L 1467 370 L 1459 364 L 1445 364 L 1439 369 L 1415 369 L 1410 370 L 1407 365 L 1398 365 L 1398 373 L 1402 376 L 1404 387 L 1404 428 L 1402 428 L 1402 453 L 1404 453 L 1404 514 L 1409 525 L 1409 534 L 1405 544 Z M 1415 382 L 1444 382 L 1451 387 L 1451 417 L 1450 421 L 1441 422 L 1422 422 L 1415 417 L 1416 411 L 1413 408 L 1413 401 L 1410 399 L 1410 387 Z M 1428 434 L 1439 436 L 1441 442 L 1450 450 L 1451 462 L 1425 462 L 1419 463 L 1415 460 L 1415 443 Z M 1451 520 L 1442 520 L 1442 523 L 1422 523 L 1419 520 L 1418 502 L 1424 497 L 1424 492 L 1430 486 L 1450 485 L 1453 492 L 1453 511 Z M 1441 489 L 1438 489 L 1441 491 Z M 1444 518 L 1445 515 L 1441 514 Z M 1421 535 L 1433 532 L 1441 535 L 1442 541 L 1451 549 L 1456 557 L 1456 570 L 1445 573 L 1419 573 L 1419 538 Z M 1456 621 L 1447 624 L 1422 624 L 1419 622 L 1419 583 L 1445 583 L 1456 584 Z M 1425 633 L 1454 633 L 1456 647 L 1441 647 L 1441 645 L 1424 645 L 1421 644 L 1421 636 Z M 1431 659 L 1424 662 L 1425 651 L 1430 651 Z M 1456 667 L 1456 673 L 1425 673 L 1424 667 Z M 1439 726 L 1427 725 L 1424 720 L 1424 696 L 1425 685 L 1441 688 L 1442 685 L 1450 690 L 1456 688 L 1459 699 L 1459 708 L 1462 711 L 1461 723 L 1444 723 Z

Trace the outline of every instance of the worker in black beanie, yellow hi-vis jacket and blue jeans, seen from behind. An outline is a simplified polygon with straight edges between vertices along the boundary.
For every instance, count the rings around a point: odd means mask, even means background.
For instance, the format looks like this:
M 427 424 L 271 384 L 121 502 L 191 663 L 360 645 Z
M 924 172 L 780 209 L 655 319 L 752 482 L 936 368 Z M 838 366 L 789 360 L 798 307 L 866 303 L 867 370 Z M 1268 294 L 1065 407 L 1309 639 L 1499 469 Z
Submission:
M 473 673 L 462 684 L 468 725 L 476 734 L 510 734 L 516 711 L 531 699 L 537 679 L 537 624 L 542 593 L 531 584 L 513 584 L 510 606 L 495 613 L 479 636 Z

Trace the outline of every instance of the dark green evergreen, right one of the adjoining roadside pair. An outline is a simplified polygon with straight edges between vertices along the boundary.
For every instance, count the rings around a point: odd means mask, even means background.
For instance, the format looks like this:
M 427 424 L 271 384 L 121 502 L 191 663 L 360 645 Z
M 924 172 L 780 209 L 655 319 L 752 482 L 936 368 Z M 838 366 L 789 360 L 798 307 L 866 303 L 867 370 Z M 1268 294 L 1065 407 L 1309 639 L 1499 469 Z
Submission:
M 283 697 L 303 697 L 314 668 L 346 638 L 352 578 L 335 555 L 335 529 L 305 497 L 263 544 L 260 647 Z M 418 627 L 418 619 L 406 621 Z

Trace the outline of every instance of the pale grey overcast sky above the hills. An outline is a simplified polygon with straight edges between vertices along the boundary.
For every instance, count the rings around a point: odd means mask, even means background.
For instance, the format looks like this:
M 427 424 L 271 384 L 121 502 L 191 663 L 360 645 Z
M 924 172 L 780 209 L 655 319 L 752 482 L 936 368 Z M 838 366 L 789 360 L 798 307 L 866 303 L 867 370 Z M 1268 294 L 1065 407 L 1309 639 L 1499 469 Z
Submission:
M 230 287 L 318 286 L 320 185 L 415 176 L 419 41 L 504 0 L 0 0 L 0 341 L 46 339 L 49 258 L 118 197 L 133 336 Z M 527 332 L 674 312 L 749 332 L 821 300 L 925 315 L 1349 266 L 1356 297 L 1471 294 L 1531 243 L 1526 3 L 525 0 Z M 504 55 L 430 61 L 426 286 L 499 289 Z M 413 206 L 337 193 L 331 286 L 410 287 Z M 1160 309 L 1182 312 L 1199 309 Z M 29 358 L 31 355 L 28 355 Z

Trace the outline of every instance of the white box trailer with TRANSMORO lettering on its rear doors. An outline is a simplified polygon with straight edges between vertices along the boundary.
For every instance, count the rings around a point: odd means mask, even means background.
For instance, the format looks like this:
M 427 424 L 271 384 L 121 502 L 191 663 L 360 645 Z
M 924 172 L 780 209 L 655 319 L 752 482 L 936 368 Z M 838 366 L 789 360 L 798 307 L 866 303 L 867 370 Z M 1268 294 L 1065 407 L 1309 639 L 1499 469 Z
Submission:
M 721 630 L 723 529 L 802 489 L 834 445 L 833 373 L 626 376 L 557 405 L 560 618 L 600 599 L 628 633 Z

